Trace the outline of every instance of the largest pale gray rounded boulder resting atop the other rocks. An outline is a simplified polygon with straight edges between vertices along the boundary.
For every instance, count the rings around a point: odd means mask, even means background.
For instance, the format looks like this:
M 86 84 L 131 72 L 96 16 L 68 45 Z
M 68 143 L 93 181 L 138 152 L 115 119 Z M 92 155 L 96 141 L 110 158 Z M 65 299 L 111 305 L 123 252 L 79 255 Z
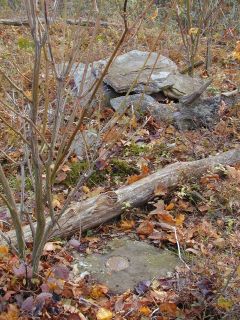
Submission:
M 109 68 L 104 82 L 118 93 L 162 90 L 170 74 L 178 73 L 177 65 L 157 52 L 132 50 L 118 56 Z

